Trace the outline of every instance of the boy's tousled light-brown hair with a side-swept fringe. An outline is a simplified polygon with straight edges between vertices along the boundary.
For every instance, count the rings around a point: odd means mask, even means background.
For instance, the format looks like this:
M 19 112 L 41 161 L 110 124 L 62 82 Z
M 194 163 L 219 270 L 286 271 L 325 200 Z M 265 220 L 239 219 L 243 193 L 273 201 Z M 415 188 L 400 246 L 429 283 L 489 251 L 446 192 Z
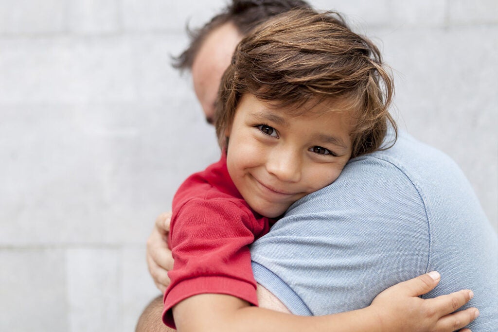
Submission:
M 216 133 L 225 148 L 225 131 L 246 93 L 296 115 L 310 105 L 336 102 L 352 110 L 354 158 L 380 149 L 389 124 L 395 141 L 388 110 L 393 91 L 377 47 L 351 31 L 339 13 L 291 10 L 261 23 L 238 45 L 222 78 Z

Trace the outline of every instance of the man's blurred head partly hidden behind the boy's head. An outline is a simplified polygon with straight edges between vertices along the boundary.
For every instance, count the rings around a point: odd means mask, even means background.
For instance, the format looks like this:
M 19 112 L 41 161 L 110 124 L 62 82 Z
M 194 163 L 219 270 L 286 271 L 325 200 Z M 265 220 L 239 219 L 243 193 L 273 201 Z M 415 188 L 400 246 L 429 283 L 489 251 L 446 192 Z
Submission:
M 310 8 L 302 0 L 233 0 L 202 28 L 188 30 L 190 45 L 173 66 L 192 70 L 196 96 L 208 122 L 212 122 L 220 80 L 237 43 L 260 22 L 301 7 Z

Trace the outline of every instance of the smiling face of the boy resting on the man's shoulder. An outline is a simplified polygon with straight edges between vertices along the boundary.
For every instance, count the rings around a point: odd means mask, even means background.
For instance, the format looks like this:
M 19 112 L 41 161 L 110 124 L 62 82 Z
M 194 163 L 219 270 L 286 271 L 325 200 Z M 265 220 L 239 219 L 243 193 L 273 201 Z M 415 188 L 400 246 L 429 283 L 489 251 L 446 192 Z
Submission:
M 227 166 L 249 206 L 275 218 L 292 203 L 334 182 L 351 156 L 349 112 L 322 103 L 289 115 L 253 95 L 242 97 L 227 136 Z

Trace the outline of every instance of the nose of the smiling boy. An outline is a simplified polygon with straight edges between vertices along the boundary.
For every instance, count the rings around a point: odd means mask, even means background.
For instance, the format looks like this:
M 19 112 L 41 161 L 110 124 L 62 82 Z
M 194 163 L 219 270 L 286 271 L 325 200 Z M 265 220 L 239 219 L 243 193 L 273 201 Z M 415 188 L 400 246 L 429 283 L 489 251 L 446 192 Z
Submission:
M 272 151 L 266 161 L 266 171 L 281 181 L 301 180 L 301 160 L 297 153 L 285 149 Z

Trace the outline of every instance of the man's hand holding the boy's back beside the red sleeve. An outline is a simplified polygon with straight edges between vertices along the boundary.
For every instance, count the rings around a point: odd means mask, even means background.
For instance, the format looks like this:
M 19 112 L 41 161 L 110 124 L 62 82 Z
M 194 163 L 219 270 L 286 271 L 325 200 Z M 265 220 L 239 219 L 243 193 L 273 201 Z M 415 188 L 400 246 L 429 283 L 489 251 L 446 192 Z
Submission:
M 169 285 L 168 271 L 173 268 L 173 257 L 168 247 L 171 212 L 157 217 L 154 228 L 147 239 L 147 265 L 156 287 L 164 293 Z

